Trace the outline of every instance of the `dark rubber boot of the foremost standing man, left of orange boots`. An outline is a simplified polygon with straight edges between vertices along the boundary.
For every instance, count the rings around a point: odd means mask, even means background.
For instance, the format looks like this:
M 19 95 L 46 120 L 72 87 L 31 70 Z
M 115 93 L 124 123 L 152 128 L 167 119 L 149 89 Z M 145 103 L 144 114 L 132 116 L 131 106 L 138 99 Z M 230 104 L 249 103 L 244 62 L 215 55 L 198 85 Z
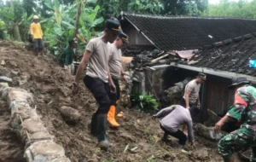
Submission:
M 101 147 L 108 148 L 113 146 L 107 139 L 107 114 L 99 114 L 97 116 L 97 133 L 98 144 Z

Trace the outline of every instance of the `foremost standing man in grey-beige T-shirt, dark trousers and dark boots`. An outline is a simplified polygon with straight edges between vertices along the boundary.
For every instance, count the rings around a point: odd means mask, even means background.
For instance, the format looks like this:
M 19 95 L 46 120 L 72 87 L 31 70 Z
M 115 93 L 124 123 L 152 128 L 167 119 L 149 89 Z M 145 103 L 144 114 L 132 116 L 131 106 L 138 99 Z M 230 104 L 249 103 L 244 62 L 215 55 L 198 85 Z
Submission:
M 89 68 L 84 77 L 84 84 L 99 104 L 91 119 L 90 133 L 97 136 L 99 144 L 104 147 L 112 145 L 107 139 L 107 114 L 111 104 L 110 89 L 113 92 L 116 89 L 108 68 L 110 55 L 108 42 L 113 43 L 121 33 L 119 20 L 109 19 L 106 23 L 103 36 L 92 38 L 87 44 L 73 83 L 73 92 L 75 93 L 79 90 L 79 78 L 88 64 Z

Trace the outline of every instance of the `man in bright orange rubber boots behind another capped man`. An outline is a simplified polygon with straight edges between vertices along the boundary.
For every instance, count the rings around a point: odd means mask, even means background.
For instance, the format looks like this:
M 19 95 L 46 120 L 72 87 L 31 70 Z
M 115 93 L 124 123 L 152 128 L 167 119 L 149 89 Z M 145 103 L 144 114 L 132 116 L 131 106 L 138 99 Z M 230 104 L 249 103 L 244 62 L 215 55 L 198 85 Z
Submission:
M 115 116 L 115 106 L 116 102 L 119 100 L 120 97 L 120 88 L 119 88 L 119 78 L 120 75 L 123 76 L 125 83 L 128 83 L 127 78 L 125 78 L 124 69 L 122 67 L 122 51 L 121 48 L 125 43 L 128 42 L 128 36 L 125 35 L 125 33 L 122 33 L 119 35 L 118 38 L 115 39 L 115 41 L 110 44 L 110 58 L 108 62 L 109 71 L 111 74 L 111 78 L 113 79 L 113 84 L 116 87 L 116 92 L 112 93 L 110 99 L 111 99 L 111 107 L 108 112 L 108 123 L 111 124 L 113 127 L 119 127 L 120 125 L 116 122 L 114 119 Z

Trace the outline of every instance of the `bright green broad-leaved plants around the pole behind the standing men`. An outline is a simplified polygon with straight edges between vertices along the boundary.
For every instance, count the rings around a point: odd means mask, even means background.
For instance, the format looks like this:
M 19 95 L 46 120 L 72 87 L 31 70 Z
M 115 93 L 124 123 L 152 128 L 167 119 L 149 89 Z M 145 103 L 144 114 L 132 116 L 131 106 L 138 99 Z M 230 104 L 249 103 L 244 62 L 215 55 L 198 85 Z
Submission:
M 58 0 L 46 0 L 44 3 L 52 13 L 51 17 L 40 21 L 43 26 L 44 39 L 49 43 L 50 50 L 56 55 L 60 63 L 62 63 L 63 52 L 67 47 L 68 39 L 74 38 L 78 3 L 80 2 L 62 5 Z M 96 36 L 94 28 L 103 22 L 103 18 L 97 15 L 101 9 L 100 6 L 95 6 L 95 4 L 92 6 L 86 3 L 82 4 L 78 34 L 76 35 L 80 40 L 80 51 L 84 50 L 88 40 Z

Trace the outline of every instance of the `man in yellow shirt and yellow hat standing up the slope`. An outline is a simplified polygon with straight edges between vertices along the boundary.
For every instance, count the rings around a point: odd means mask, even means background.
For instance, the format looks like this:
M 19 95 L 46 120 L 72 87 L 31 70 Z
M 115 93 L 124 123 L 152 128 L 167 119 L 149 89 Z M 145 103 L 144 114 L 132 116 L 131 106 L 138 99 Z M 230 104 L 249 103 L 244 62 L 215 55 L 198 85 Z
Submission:
M 30 25 L 30 34 L 32 35 L 33 40 L 33 48 L 36 55 L 39 54 L 39 52 L 42 52 L 44 48 L 43 43 L 43 32 L 41 25 L 39 24 L 39 17 L 38 15 L 33 16 L 34 22 Z

